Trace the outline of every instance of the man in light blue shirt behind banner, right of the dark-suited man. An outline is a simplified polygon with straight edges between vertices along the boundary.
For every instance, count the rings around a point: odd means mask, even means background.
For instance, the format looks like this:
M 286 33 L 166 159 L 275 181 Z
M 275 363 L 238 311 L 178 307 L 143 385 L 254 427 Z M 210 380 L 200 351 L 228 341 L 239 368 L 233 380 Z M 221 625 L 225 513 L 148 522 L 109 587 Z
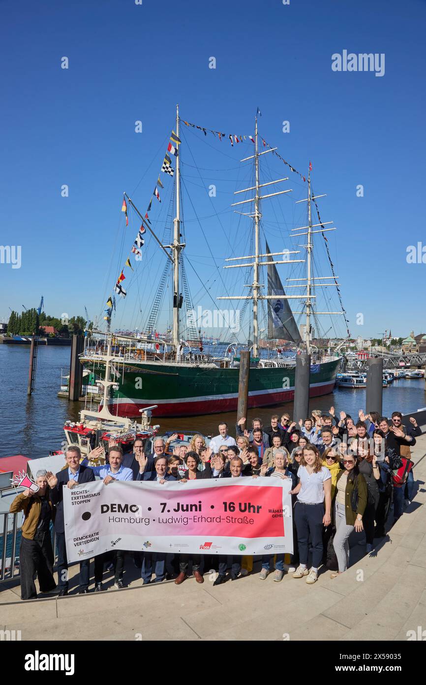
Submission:
M 103 479 L 105 485 L 114 483 L 116 480 L 133 480 L 133 471 L 122 466 L 123 451 L 118 445 L 109 448 L 109 464 L 102 466 L 94 466 L 92 471 L 95 475 Z M 94 591 L 100 593 L 103 590 L 102 576 L 103 566 L 105 561 L 113 556 L 114 559 L 114 587 L 117 590 L 124 588 L 123 584 L 123 569 L 124 569 L 124 551 L 122 549 L 114 549 L 113 552 L 104 552 L 98 554 L 94 558 Z

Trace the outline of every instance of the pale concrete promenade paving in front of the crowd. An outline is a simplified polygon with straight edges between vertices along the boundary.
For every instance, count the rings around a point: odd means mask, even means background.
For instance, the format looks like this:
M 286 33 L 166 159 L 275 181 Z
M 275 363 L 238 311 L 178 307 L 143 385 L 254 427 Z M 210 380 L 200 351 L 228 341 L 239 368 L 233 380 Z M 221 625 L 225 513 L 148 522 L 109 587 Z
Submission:
M 407 640 L 409 630 L 426 628 L 426 436 L 412 452 L 411 505 L 368 556 L 353 534 L 351 568 L 334 580 L 320 569 L 312 586 L 289 575 L 275 583 L 255 570 L 217 587 L 207 573 L 202 585 L 189 578 L 142 587 L 129 556 L 125 590 L 111 589 L 105 573 L 107 592 L 24 603 L 16 582 L 3 584 L 0 630 L 21 630 L 22 640 L 303 640 L 308 630 L 314 640 Z

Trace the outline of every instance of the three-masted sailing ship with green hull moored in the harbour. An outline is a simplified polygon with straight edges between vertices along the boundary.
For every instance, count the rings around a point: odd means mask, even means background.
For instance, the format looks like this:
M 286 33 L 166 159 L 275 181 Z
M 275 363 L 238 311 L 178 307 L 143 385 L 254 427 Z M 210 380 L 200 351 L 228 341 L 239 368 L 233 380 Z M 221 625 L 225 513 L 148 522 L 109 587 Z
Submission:
M 187 123 L 187 122 L 185 122 Z M 180 143 L 181 119 L 176 108 L 176 134 L 175 139 Z M 199 128 L 199 127 L 198 127 Z M 276 192 L 265 191 L 265 186 L 273 186 L 282 183 L 288 178 L 280 178 L 262 183 L 259 169 L 259 158 L 276 148 L 259 149 L 258 114 L 254 125 L 254 136 L 250 136 L 254 143 L 254 154 L 244 158 L 241 162 L 250 161 L 253 164 L 253 185 L 249 188 L 237 190 L 236 194 L 241 197 L 243 193 L 250 193 L 245 199 L 237 198 L 232 206 L 249 209 L 248 212 L 239 212 L 252 221 L 254 249 L 251 254 L 239 258 L 228 258 L 225 269 L 244 269 L 244 274 L 251 274 L 251 282 L 245 287 L 248 294 L 223 295 L 218 299 L 243 301 L 246 305 L 252 302 L 252 330 L 250 340 L 251 363 L 249 380 L 249 408 L 274 406 L 291 401 L 295 390 L 295 355 L 302 350 L 308 353 L 312 351 L 312 366 L 310 369 L 310 396 L 325 395 L 334 388 L 336 373 L 341 364 L 341 358 L 330 349 L 319 350 L 312 348 L 311 332 L 312 319 L 318 321 L 317 316 L 330 314 L 344 314 L 341 311 L 319 312 L 315 308 L 315 299 L 321 288 L 338 287 L 336 275 L 314 276 L 312 273 L 312 250 L 314 247 L 314 234 L 334 230 L 325 228 L 324 223 L 312 224 L 312 202 L 316 196 L 312 195 L 310 171 L 307 176 L 307 197 L 299 202 L 307 203 L 307 224 L 299 228 L 293 228 L 292 235 L 306 236 L 304 245 L 299 246 L 304 250 L 306 258 L 294 259 L 300 256 L 300 250 L 284 249 L 271 251 L 266 242 L 265 250 L 261 248 L 261 204 L 263 201 L 277 195 L 284 195 L 291 190 L 277 190 Z M 261 139 L 263 140 L 263 139 Z M 265 147 L 265 146 L 264 146 Z M 105 401 L 111 414 L 116 416 L 139 416 L 139 410 L 146 406 L 156 405 L 152 414 L 155 416 L 190 416 L 196 414 L 208 414 L 213 412 L 226 412 L 237 409 L 238 385 L 239 385 L 239 349 L 237 344 L 228 345 L 225 353 L 220 355 L 207 354 L 202 342 L 198 349 L 192 349 L 191 345 L 183 339 L 182 291 L 187 290 L 187 280 L 184 271 L 182 253 L 185 249 L 181 221 L 181 153 L 183 145 L 179 147 L 179 153 L 175 158 L 174 169 L 174 210 L 172 240 L 166 245 L 155 234 L 145 216 L 139 212 L 135 203 L 124 193 L 125 201 L 133 208 L 142 221 L 144 232 L 149 232 L 155 239 L 159 249 L 165 253 L 166 266 L 162 280 L 165 281 L 167 273 L 172 269 L 172 329 L 171 336 L 161 336 L 153 331 L 152 324 L 146 334 L 118 335 L 110 331 L 110 320 L 107 316 L 107 332 L 90 332 L 86 338 L 88 345 L 81 355 L 81 362 L 86 368 L 94 371 L 100 377 L 105 377 L 109 383 L 108 396 Z M 169 158 L 170 160 L 170 158 Z M 287 162 L 286 162 L 287 163 Z M 291 167 L 292 171 L 295 171 Z M 263 194 L 264 193 L 264 194 Z M 243 196 L 244 197 L 244 196 Z M 239 211 L 234 210 L 234 211 Z M 332 223 L 332 222 L 326 222 Z M 315 229 L 315 227 L 319 227 Z M 147 233 L 147 235 L 149 235 Z M 325 238 L 325 236 L 323 236 Z M 167 241 L 165 241 L 167 242 Z M 234 263 L 238 262 L 238 263 Z M 291 264 L 304 262 L 306 264 L 306 276 L 303 278 L 290 279 L 289 288 L 297 288 L 299 294 L 286 294 L 282 286 L 280 275 L 276 266 L 278 264 Z M 267 267 L 267 292 L 265 284 L 261 282 L 263 267 Z M 304 272 L 305 273 L 305 272 Z M 120 291 L 120 283 L 116 286 Z M 294 290 L 293 290 L 294 292 Z M 159 298 L 157 292 L 157 300 Z M 339 297 L 340 299 L 340 297 Z M 290 301 L 299 303 L 299 309 L 292 312 Z M 271 340 L 287 340 L 288 347 L 293 348 L 293 357 L 281 357 L 275 353 L 275 357 L 265 355 L 261 349 L 259 331 L 259 308 L 265 308 L 267 304 L 267 329 Z M 158 307 L 157 307 L 158 309 Z M 303 316 L 305 323 L 301 327 L 303 334 L 295 321 L 295 315 Z M 346 320 L 346 319 L 345 319 Z M 192 328 L 194 332 L 194 327 Z M 95 347 L 90 345 L 93 336 L 98 336 Z M 193 333 L 197 336 L 197 333 Z M 103 343 L 100 339 L 103 338 Z M 231 341 L 232 343 L 232 341 Z M 249 344 L 250 344 L 249 343 Z M 276 347 L 282 347 L 280 343 Z M 240 346 L 241 349 L 241 346 Z M 108 377 L 106 377 L 108 376 Z

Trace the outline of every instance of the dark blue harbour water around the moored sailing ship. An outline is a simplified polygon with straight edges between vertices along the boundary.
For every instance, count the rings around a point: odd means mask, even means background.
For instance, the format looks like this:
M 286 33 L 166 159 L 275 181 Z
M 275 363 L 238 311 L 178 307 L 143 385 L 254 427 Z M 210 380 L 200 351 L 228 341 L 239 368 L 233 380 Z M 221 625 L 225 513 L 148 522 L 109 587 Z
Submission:
M 23 454 L 29 458 L 46 456 L 50 450 L 60 449 L 64 440 L 63 425 L 67 420 L 78 421 L 79 411 L 84 403 L 69 402 L 57 397 L 61 382 L 61 369 L 69 371 L 69 347 L 45 347 L 38 349 L 36 390 L 27 397 L 29 347 L 21 345 L 0 345 L 0 458 Z M 345 410 L 358 417 L 358 410 L 366 410 L 365 388 L 351 390 L 335 388 L 330 395 L 315 397 L 310 409 L 328 412 L 334 406 L 336 412 Z M 399 410 L 403 414 L 416 412 L 426 406 L 425 379 L 399 379 L 383 390 L 383 409 L 386 416 Z M 254 409 L 249 412 L 249 421 L 259 416 L 264 425 L 269 425 L 271 414 L 283 411 L 292 415 L 293 403 L 278 407 Z M 226 421 L 230 434 L 235 434 L 235 412 L 187 416 L 179 418 L 152 419 L 160 425 L 160 434 L 166 430 L 200 431 L 204 435 L 217 434 L 219 421 Z

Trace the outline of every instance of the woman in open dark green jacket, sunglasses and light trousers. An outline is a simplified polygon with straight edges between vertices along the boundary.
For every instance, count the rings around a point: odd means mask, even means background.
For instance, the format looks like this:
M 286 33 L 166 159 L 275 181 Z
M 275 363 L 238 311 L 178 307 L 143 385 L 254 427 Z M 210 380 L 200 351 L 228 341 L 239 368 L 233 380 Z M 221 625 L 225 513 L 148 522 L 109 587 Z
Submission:
M 360 473 L 356 456 L 343 456 L 344 469 L 337 475 L 336 482 L 336 534 L 333 547 L 338 561 L 338 571 L 331 574 L 336 578 L 349 566 L 349 535 L 364 530 L 362 516 L 367 507 L 367 483 Z

